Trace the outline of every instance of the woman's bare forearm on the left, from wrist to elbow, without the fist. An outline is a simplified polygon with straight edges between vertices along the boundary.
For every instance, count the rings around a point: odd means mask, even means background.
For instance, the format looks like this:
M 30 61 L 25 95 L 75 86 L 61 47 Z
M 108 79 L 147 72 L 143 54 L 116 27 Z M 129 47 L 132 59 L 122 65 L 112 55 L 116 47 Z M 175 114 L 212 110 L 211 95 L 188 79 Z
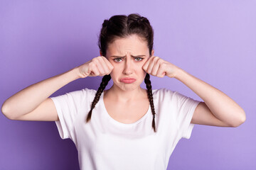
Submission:
M 26 113 L 31 113 L 44 101 L 42 107 L 46 106 L 46 104 L 54 107 L 53 101 L 48 97 L 71 81 L 79 79 L 80 77 L 78 73 L 78 67 L 75 67 L 74 69 L 68 70 L 68 72 L 39 81 L 36 84 L 32 84 L 31 86 L 18 91 L 18 93 L 14 94 L 4 102 L 1 108 L 2 113 L 4 113 L 7 118 L 15 120 Z M 53 107 L 51 107 L 51 109 L 55 109 Z M 58 118 L 57 115 L 55 115 L 55 117 Z

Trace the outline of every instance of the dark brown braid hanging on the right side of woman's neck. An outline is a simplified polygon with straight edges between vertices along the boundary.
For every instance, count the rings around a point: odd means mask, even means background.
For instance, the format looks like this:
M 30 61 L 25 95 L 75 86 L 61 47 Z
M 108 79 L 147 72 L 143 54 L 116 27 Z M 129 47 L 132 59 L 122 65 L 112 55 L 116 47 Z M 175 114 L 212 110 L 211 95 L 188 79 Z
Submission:
M 146 84 L 146 89 L 147 89 L 147 94 L 149 98 L 149 103 L 151 106 L 151 112 L 153 114 L 153 120 L 152 120 L 152 128 L 154 129 L 154 132 L 156 132 L 156 124 L 155 124 L 155 115 L 156 112 L 154 110 L 154 101 L 153 101 L 153 94 L 152 94 L 152 86 L 151 86 L 151 81 L 149 80 L 149 74 L 146 73 L 146 77 L 144 79 L 145 84 Z

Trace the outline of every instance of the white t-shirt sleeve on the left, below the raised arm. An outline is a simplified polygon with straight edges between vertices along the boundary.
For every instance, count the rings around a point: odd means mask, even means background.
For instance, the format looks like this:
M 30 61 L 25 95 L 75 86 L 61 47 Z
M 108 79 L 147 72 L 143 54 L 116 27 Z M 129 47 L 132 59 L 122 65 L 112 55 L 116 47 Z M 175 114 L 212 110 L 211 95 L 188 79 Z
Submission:
M 58 121 L 55 121 L 55 124 L 63 140 L 67 138 L 72 139 L 73 137 L 75 118 L 80 111 L 84 95 L 85 91 L 82 89 L 51 98 L 59 118 Z

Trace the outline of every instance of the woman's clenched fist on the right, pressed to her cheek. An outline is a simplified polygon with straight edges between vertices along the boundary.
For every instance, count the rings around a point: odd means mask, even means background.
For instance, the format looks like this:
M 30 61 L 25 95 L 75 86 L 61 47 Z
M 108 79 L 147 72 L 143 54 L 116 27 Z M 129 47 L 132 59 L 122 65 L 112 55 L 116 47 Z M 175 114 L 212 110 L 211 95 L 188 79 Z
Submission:
M 142 69 L 144 69 L 146 73 L 156 77 L 168 76 L 173 78 L 176 77 L 178 72 L 178 67 L 176 67 L 176 65 L 166 62 L 165 60 L 156 56 L 149 57 L 149 60 L 144 63 Z

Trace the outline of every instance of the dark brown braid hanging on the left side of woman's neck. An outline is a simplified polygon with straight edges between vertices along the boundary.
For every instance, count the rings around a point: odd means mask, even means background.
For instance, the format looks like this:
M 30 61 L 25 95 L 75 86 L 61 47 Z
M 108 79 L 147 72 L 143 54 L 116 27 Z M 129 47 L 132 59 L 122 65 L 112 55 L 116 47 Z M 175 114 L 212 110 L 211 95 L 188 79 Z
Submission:
M 100 100 L 100 95 L 102 94 L 102 92 L 104 91 L 105 87 L 107 86 L 108 82 L 110 81 L 111 77 L 110 74 L 105 75 L 104 77 L 102 77 L 102 82 L 100 84 L 99 89 L 97 89 L 97 93 L 95 94 L 95 98 L 92 101 L 92 106 L 91 109 L 87 115 L 87 119 L 86 119 L 86 123 L 90 121 L 91 117 L 92 117 L 92 110 L 93 108 L 95 108 L 95 105 L 97 104 L 97 102 Z

